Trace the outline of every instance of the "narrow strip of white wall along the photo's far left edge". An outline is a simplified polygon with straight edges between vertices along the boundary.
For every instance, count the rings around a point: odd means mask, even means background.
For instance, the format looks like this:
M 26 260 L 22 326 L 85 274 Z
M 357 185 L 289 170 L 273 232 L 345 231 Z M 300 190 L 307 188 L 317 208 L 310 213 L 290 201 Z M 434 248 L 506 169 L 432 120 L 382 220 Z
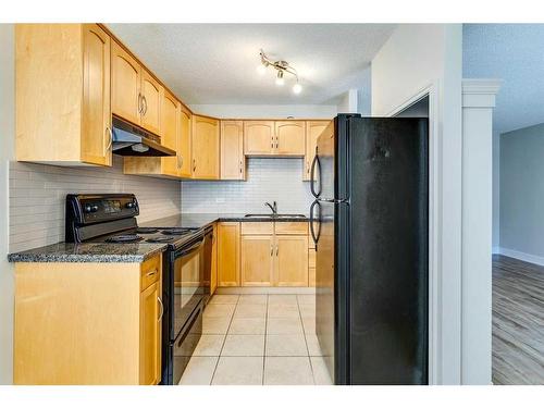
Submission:
M 13 268 L 7 259 L 9 162 L 15 140 L 13 46 L 13 24 L 0 24 L 0 384 L 13 382 Z

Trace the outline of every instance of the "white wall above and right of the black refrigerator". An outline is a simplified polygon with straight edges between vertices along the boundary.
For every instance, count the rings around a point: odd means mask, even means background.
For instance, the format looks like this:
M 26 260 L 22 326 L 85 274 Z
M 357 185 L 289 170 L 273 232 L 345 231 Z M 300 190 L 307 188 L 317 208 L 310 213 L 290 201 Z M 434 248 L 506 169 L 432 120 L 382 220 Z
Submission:
M 431 92 L 431 382 L 461 382 L 461 71 L 458 24 L 399 25 L 372 60 L 372 115 Z

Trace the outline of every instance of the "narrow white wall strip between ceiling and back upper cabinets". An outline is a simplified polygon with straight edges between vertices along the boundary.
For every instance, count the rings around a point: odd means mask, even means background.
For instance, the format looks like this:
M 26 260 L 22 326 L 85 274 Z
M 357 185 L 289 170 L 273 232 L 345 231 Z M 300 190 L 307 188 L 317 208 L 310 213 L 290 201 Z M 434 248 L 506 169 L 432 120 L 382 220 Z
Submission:
M 337 112 L 335 104 L 191 104 L 190 109 L 221 119 L 332 119 Z

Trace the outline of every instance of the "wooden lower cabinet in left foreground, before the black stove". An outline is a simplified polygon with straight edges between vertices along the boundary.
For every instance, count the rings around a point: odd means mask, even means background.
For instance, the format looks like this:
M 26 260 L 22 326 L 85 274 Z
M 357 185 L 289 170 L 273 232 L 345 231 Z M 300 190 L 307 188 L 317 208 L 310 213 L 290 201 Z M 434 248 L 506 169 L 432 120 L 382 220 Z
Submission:
M 17 262 L 14 384 L 157 384 L 161 259 Z

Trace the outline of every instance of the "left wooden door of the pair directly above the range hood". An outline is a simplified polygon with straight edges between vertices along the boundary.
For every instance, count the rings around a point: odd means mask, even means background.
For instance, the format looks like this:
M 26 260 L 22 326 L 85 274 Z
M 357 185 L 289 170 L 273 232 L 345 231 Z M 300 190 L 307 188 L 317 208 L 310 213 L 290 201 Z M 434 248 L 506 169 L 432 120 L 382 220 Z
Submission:
M 140 66 L 119 44 L 111 44 L 111 111 L 140 123 Z

